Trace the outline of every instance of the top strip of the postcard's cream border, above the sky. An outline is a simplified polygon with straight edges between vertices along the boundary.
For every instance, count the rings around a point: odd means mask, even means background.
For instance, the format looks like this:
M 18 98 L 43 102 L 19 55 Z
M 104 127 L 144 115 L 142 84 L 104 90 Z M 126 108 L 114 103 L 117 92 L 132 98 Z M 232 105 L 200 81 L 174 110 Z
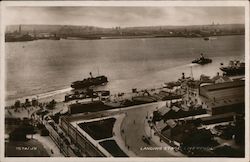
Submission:
M 3 6 L 248 6 L 246 1 L 3 1 Z

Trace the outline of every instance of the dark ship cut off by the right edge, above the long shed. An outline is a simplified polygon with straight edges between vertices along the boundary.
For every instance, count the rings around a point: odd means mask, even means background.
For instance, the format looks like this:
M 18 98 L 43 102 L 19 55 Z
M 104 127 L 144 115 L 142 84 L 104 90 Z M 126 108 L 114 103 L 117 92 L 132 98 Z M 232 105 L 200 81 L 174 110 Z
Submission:
M 228 66 L 221 67 L 220 70 L 227 76 L 245 75 L 245 63 L 238 60 L 230 61 Z

